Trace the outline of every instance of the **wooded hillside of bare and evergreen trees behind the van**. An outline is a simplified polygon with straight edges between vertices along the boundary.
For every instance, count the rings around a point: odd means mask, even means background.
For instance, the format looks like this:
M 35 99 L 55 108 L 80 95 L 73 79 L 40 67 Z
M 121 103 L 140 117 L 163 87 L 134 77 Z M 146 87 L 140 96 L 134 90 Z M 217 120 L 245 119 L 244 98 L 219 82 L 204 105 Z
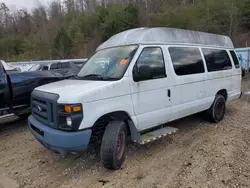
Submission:
M 85 58 L 112 35 L 135 27 L 223 34 L 246 46 L 250 0 L 53 0 L 15 12 L 0 0 L 0 59 Z

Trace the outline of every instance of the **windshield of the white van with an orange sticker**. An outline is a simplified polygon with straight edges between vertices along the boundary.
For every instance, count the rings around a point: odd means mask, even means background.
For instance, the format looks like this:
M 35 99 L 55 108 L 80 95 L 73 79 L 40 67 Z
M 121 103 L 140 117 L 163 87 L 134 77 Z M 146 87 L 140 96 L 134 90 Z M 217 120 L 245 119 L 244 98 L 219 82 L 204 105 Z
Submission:
M 98 51 L 86 62 L 77 77 L 83 80 L 119 80 L 137 49 L 137 45 L 131 45 Z

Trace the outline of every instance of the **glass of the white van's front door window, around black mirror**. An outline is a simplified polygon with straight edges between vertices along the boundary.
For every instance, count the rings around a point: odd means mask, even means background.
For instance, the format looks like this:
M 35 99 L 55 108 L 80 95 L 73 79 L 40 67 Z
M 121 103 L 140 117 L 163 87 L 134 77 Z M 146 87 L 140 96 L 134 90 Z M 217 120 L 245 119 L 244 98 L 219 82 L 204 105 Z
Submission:
M 152 69 L 152 76 L 147 80 L 166 77 L 165 62 L 160 47 L 146 47 L 143 49 L 133 69 L 134 77 L 137 76 L 137 70 L 143 65 L 148 65 Z

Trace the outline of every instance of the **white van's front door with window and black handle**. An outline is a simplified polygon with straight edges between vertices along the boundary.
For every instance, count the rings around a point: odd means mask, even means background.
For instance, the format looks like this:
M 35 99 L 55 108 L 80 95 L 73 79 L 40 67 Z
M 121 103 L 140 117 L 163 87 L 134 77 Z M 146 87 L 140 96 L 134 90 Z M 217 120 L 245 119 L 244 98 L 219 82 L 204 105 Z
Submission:
M 148 68 L 151 74 L 142 77 L 140 71 Z M 132 74 L 131 95 L 139 130 L 166 123 L 171 112 L 171 91 L 162 48 L 151 46 L 142 49 Z

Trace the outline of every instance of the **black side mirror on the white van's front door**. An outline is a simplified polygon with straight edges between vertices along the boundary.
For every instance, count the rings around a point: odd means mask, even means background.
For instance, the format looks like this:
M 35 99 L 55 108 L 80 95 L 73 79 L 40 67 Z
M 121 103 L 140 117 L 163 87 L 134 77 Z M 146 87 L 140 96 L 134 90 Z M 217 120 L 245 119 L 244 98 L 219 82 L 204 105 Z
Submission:
M 134 75 L 134 81 L 139 82 L 143 80 L 152 79 L 153 70 L 149 65 L 141 65 L 137 69 L 137 73 Z

